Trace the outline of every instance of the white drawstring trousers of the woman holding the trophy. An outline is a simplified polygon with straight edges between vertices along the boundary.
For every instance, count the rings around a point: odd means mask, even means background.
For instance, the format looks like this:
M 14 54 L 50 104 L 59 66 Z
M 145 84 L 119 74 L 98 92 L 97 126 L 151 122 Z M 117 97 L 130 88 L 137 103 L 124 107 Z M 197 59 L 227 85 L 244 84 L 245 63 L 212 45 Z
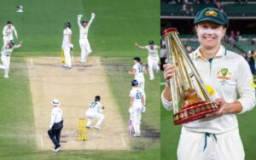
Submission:
M 244 160 L 239 130 L 206 134 L 182 129 L 177 147 L 178 160 Z

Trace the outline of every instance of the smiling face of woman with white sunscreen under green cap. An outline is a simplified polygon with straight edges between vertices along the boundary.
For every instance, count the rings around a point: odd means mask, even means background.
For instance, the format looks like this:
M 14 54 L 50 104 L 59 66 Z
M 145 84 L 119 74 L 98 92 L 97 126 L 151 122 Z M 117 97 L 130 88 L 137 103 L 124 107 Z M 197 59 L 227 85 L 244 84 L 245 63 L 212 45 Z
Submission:
M 195 31 L 201 46 L 205 49 L 212 49 L 220 45 L 221 38 L 224 37 L 226 28 L 210 21 L 202 21 L 195 26 Z

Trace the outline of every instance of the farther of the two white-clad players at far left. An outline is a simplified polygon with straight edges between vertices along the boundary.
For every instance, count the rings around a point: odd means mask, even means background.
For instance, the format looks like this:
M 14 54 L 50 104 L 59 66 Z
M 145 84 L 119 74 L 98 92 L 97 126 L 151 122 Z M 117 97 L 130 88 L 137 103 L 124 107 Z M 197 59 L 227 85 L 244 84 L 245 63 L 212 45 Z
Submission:
M 7 25 L 3 27 L 3 46 L 5 46 L 9 41 L 14 40 L 13 32 L 15 32 L 15 37 L 18 39 L 15 26 L 13 26 L 13 22 L 9 20 Z

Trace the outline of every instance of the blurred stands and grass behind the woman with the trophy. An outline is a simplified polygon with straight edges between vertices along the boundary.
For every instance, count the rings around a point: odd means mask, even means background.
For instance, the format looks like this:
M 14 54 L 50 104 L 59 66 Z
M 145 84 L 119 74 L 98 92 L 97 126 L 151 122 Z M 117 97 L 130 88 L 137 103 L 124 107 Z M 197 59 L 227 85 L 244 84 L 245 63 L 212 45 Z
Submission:
M 230 26 L 222 41 L 223 45 L 237 54 L 243 55 L 248 61 L 256 50 L 256 1 L 241 0 L 161 0 L 160 32 L 166 28 L 176 27 L 188 52 L 198 46 L 194 31 L 195 14 L 204 8 L 212 7 L 224 11 L 230 20 Z M 255 60 L 255 59 L 254 59 Z M 161 37 L 161 65 L 166 62 L 165 41 Z M 254 77 L 255 79 L 255 77 Z M 255 80 L 254 80 L 255 83 Z M 165 80 L 161 77 L 161 89 L 164 89 Z M 241 140 L 246 152 L 246 159 L 256 159 L 256 135 L 253 122 L 256 111 L 248 111 L 238 115 Z M 161 158 L 177 159 L 177 144 L 181 126 L 174 126 L 172 111 L 166 111 L 161 106 Z

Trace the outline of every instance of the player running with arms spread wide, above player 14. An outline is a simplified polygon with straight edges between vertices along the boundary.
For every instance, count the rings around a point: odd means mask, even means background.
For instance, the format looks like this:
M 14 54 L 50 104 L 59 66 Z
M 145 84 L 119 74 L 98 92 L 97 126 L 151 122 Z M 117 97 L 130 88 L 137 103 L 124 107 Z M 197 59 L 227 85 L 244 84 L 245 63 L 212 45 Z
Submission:
M 159 67 L 159 55 L 157 49 L 160 49 L 160 46 L 154 45 L 154 41 L 149 41 L 148 46 L 139 46 L 135 43 L 135 46 L 138 49 L 148 49 L 148 72 L 149 72 L 149 80 L 154 80 L 154 70 L 160 71 Z

